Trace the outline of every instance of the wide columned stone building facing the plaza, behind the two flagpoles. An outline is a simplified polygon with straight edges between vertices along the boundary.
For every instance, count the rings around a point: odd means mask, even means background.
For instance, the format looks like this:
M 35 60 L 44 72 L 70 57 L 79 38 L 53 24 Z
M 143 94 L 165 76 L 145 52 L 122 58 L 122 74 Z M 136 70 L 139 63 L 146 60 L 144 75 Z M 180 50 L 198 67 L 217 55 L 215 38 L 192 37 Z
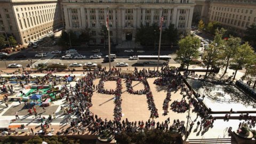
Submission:
M 63 0 L 66 30 L 81 33 L 90 28 L 95 43 L 103 43 L 101 28 L 109 27 L 112 43 L 135 41 L 136 29 L 141 25 L 158 25 L 164 15 L 163 29 L 171 23 L 180 33 L 190 31 L 194 0 Z

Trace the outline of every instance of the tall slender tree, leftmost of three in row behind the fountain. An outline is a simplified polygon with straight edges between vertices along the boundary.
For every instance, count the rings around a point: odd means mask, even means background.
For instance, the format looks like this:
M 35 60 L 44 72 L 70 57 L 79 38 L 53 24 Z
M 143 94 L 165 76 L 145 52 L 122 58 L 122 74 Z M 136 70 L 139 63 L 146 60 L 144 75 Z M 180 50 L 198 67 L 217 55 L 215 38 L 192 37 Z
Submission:
M 209 68 L 213 68 L 215 65 L 218 64 L 219 60 L 221 59 L 221 49 L 223 49 L 223 34 L 225 34 L 226 30 L 225 29 L 217 29 L 215 31 L 215 36 L 214 36 L 214 41 L 209 45 L 209 48 L 205 50 L 203 54 L 203 62 L 207 68 L 205 77 L 207 77 L 207 73 Z

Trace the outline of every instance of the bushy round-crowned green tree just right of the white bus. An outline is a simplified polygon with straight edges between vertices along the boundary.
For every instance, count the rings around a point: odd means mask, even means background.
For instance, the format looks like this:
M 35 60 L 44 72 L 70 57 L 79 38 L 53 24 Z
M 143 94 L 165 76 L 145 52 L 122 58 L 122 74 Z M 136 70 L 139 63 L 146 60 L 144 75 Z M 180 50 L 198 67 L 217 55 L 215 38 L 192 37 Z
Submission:
M 179 50 L 176 51 L 175 61 L 188 67 L 191 63 L 191 59 L 198 57 L 198 49 L 200 46 L 200 39 L 197 37 L 186 36 L 179 41 Z

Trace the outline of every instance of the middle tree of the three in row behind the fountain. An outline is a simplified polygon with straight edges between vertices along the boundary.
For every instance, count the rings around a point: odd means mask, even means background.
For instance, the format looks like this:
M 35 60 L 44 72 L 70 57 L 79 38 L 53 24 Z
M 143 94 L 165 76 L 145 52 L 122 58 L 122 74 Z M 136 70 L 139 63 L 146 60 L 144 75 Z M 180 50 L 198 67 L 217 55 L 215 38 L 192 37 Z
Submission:
M 225 75 L 227 73 L 227 69 L 228 69 L 228 66 L 229 66 L 229 60 L 230 60 L 230 58 L 233 58 L 234 55 L 237 53 L 237 49 L 238 49 L 240 44 L 241 44 L 241 38 L 239 38 L 239 37 L 231 36 L 226 41 L 226 44 L 223 47 L 224 48 L 223 49 L 223 56 L 224 56 L 224 59 L 226 61 L 226 68 L 225 68 L 225 71 L 224 71 L 223 75 Z

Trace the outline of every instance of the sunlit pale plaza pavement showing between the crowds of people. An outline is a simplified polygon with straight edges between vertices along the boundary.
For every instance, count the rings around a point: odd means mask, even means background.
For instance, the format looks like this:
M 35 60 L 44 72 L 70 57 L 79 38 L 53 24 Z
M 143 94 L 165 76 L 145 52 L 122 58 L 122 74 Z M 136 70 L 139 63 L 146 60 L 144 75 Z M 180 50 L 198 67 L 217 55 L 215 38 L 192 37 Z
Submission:
M 193 68 L 193 66 L 191 66 L 190 68 Z M 228 74 L 232 74 L 233 70 L 228 70 Z M 71 73 L 68 72 L 62 72 L 62 73 L 57 73 L 56 75 L 68 75 Z M 196 74 L 205 74 L 205 73 L 196 73 Z M 1 74 L 2 76 L 5 76 L 4 74 Z M 36 75 L 44 75 L 44 74 L 34 74 Z M 81 72 L 75 72 L 73 75 L 76 76 L 84 76 Z M 243 76 L 243 73 L 239 72 L 237 73 L 237 79 L 239 79 L 239 77 Z M 172 110 L 170 110 L 170 105 L 174 100 L 181 100 L 182 96 L 180 94 L 180 91 L 177 92 L 172 92 L 171 93 L 171 101 L 169 102 L 169 113 L 167 116 L 163 116 L 163 100 L 166 97 L 166 87 L 163 86 L 156 86 L 155 84 L 153 84 L 155 78 L 148 78 L 148 83 L 150 85 L 150 89 L 153 93 L 153 97 L 154 97 L 154 101 L 155 101 L 155 105 L 156 108 L 158 109 L 158 114 L 159 114 L 159 118 L 156 118 L 155 121 L 156 122 L 164 122 L 165 119 L 167 119 L 168 117 L 170 117 L 171 119 L 171 124 L 173 123 L 174 119 L 180 119 L 180 121 L 185 121 L 185 126 L 187 124 L 187 118 L 186 116 L 188 115 L 188 111 L 186 111 L 185 113 L 176 113 Z M 99 79 L 96 79 L 94 81 L 94 84 L 98 84 L 99 83 Z M 75 82 L 71 82 L 71 85 L 75 85 Z M 129 94 L 126 92 L 126 85 L 125 85 L 125 81 L 124 79 L 122 79 L 122 95 L 121 98 L 123 99 L 122 101 L 122 113 L 123 113 L 123 117 L 122 120 L 125 118 L 128 118 L 129 121 L 144 121 L 146 122 L 149 119 L 150 116 L 150 111 L 148 110 L 148 104 L 147 104 L 147 99 L 146 99 L 146 95 L 136 95 L 136 94 Z M 132 83 L 133 89 L 134 90 L 142 90 L 144 89 L 143 84 L 133 81 Z M 19 89 L 20 87 L 17 86 Z M 69 86 L 68 86 L 69 87 Z M 115 82 L 106 82 L 105 83 L 105 89 L 115 89 L 116 84 Z M 17 89 L 18 89 L 17 88 Z M 90 108 L 90 110 L 95 114 L 98 115 L 98 117 L 101 117 L 102 119 L 113 119 L 113 110 L 114 110 L 114 95 L 107 95 L 107 94 L 99 94 L 97 93 L 97 91 L 93 92 L 93 96 L 92 96 L 92 104 L 93 106 Z M 187 100 L 188 101 L 188 100 Z M 46 111 L 50 111 L 47 113 L 43 113 L 42 109 L 38 109 L 40 112 L 42 113 L 42 116 L 44 117 L 48 117 L 49 114 L 55 112 L 58 113 L 60 111 L 60 107 L 62 106 L 67 106 L 68 104 L 65 103 L 65 99 L 61 99 L 61 100 L 57 100 L 52 102 L 52 106 L 46 108 Z M 19 102 L 10 102 L 10 105 L 8 108 L 5 108 L 4 103 L 0 103 L 0 117 L 2 119 L 15 119 L 14 113 L 15 110 L 18 110 L 19 108 L 22 108 L 22 106 L 24 106 L 24 103 L 21 102 L 21 106 L 19 106 Z M 15 107 L 15 110 L 12 109 L 13 107 Z M 25 111 L 23 111 L 25 110 Z M 17 120 L 17 122 L 12 122 L 11 125 L 17 125 L 17 124 L 22 124 L 22 121 L 24 121 L 24 124 L 29 126 L 29 127 L 33 127 L 36 129 L 39 129 L 38 125 L 40 125 L 41 123 L 36 122 L 35 120 L 35 116 L 34 114 L 29 116 L 26 114 L 26 109 L 23 109 L 22 111 L 18 111 L 19 117 L 20 119 L 23 120 Z M 66 122 L 63 122 L 63 118 L 65 118 L 64 115 L 57 115 L 56 116 L 57 119 L 53 120 L 53 122 L 51 123 L 51 126 L 54 127 L 55 132 L 60 131 L 63 128 L 68 127 L 69 125 L 66 125 Z M 71 116 L 72 118 L 75 118 L 75 116 Z M 191 131 L 188 140 L 189 139 L 207 139 L 207 138 L 228 138 L 228 133 L 227 133 L 227 127 L 231 126 L 233 127 L 233 130 L 236 130 L 238 128 L 238 124 L 239 122 L 243 122 L 240 121 L 238 119 L 230 119 L 229 121 L 223 121 L 223 119 L 217 119 L 214 123 L 213 126 L 211 126 L 209 128 L 209 130 L 207 131 L 199 131 L 199 129 L 196 129 L 196 122 L 197 121 L 201 121 L 201 118 L 196 116 L 196 113 L 194 112 L 194 108 L 192 107 L 190 110 L 190 117 L 189 118 L 189 123 L 191 121 L 195 122 L 195 125 L 193 127 L 193 130 Z M 26 121 L 25 119 L 30 119 L 31 121 Z M 59 121 L 58 121 L 59 119 Z M 55 121 L 55 122 L 54 122 Z

